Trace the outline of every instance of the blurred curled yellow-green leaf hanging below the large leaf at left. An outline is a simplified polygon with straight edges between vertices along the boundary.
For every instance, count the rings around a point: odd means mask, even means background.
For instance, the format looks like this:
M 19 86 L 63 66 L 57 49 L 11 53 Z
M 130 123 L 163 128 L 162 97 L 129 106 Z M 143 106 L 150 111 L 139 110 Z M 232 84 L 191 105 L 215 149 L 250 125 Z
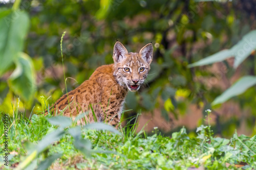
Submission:
M 22 99 L 30 101 L 36 91 L 33 62 L 27 54 L 19 53 L 15 63 L 16 68 L 8 80 L 9 86 Z

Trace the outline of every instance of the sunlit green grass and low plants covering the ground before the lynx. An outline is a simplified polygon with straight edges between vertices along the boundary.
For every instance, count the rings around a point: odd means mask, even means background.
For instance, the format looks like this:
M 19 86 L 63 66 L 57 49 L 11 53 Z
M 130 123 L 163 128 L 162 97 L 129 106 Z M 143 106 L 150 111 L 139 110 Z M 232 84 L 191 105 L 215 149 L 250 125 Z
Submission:
M 3 121 L 0 126 L 4 126 Z M 239 169 L 237 164 L 245 165 L 240 169 L 256 167 L 256 136 L 238 137 L 235 133 L 230 140 L 212 137 L 210 127 L 203 125 L 197 129 L 196 137 L 189 137 L 185 128 L 172 137 L 158 134 L 157 128 L 153 136 L 147 136 L 144 131 L 136 134 L 136 127 L 128 125 L 118 133 L 102 124 L 76 126 L 67 117 L 41 114 L 33 115 L 30 121 L 16 112 L 9 118 L 9 166 L 3 165 L 2 136 L 0 168 L 13 169 L 11 165 L 24 162 L 29 165 L 27 169 L 49 165 L 50 169 Z M 4 129 L 0 128 L 0 132 L 3 134 Z

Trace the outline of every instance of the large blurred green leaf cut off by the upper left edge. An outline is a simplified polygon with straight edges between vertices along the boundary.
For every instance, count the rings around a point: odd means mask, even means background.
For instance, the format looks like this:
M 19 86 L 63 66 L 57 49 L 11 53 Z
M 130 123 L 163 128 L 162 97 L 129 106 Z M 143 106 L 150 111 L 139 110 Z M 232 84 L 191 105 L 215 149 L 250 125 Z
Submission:
M 24 11 L 0 11 L 0 76 L 23 51 L 29 28 L 29 16 Z

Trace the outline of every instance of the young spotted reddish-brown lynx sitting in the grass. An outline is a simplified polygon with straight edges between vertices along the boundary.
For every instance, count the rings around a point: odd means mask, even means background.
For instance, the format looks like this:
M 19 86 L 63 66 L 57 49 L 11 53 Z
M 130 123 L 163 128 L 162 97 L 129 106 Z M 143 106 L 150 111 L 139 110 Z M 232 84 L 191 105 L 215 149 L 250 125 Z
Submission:
M 114 64 L 98 67 L 89 80 L 58 99 L 50 108 L 52 113 L 55 114 L 57 109 L 63 115 L 73 117 L 88 111 L 80 123 L 97 120 L 118 128 L 128 89 L 137 91 L 150 70 L 153 46 L 149 43 L 139 53 L 128 53 L 117 41 L 113 59 Z

